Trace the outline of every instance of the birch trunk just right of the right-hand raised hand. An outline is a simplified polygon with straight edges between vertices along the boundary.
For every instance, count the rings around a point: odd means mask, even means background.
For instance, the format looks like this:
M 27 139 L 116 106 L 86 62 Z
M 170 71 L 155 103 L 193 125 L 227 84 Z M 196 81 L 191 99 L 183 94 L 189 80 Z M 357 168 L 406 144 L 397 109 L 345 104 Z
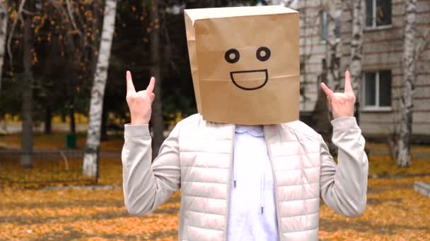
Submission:
M 359 107 L 361 100 L 361 82 L 363 70 L 361 60 L 363 59 L 363 24 L 364 24 L 364 1 L 351 1 L 352 33 L 351 33 L 351 85 L 356 96 L 354 116 L 359 123 Z

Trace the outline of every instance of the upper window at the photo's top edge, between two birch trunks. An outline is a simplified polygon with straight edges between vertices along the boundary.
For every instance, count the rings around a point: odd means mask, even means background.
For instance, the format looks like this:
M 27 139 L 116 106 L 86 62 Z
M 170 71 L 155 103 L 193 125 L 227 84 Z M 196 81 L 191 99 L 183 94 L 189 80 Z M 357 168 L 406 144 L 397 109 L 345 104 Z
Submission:
M 391 25 L 391 0 L 366 0 L 366 27 Z

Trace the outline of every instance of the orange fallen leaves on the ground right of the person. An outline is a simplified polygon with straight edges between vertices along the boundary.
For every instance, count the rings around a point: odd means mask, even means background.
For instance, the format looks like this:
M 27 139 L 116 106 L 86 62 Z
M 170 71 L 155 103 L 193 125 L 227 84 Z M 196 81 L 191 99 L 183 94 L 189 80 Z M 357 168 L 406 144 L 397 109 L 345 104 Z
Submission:
M 367 206 L 358 218 L 320 210 L 320 240 L 430 240 L 430 199 L 413 183 L 430 177 L 370 179 Z

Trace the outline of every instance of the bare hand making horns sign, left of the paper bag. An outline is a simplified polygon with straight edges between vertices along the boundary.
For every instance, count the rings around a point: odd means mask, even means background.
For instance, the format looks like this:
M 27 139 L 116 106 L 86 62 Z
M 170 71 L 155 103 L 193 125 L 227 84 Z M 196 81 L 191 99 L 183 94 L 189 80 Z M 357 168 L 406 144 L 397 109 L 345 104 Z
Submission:
M 153 87 L 156 85 L 156 79 L 151 78 L 146 90 L 136 92 L 134 89 L 132 73 L 127 71 L 127 104 L 132 117 L 132 125 L 148 124 L 151 119 L 151 104 L 156 95 L 153 94 Z

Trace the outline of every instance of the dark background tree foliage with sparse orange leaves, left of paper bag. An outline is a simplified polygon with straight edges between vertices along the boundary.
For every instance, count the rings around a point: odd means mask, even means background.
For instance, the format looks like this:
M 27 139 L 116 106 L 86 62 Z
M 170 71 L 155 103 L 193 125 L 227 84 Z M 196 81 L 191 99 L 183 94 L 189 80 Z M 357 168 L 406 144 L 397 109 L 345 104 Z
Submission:
M 31 16 L 34 41 L 32 47 L 33 93 L 36 123 L 45 121 L 45 111 L 65 116 L 69 111 L 88 113 L 91 80 L 98 56 L 103 0 L 35 0 L 35 11 L 22 1 L 9 1 L 8 37 L 10 54 L 6 54 L 0 93 L 0 116 L 21 114 L 23 78 L 23 16 Z M 151 56 L 149 36 L 155 27 L 149 19 L 150 1 L 120 1 L 110 58 L 105 111 L 127 119 L 124 101 L 125 70 L 132 70 L 136 88 L 149 82 Z M 204 8 L 266 4 L 265 1 L 159 1 L 159 59 L 163 78 L 162 101 L 166 124 L 177 113 L 188 116 L 196 112 L 194 89 L 185 36 L 184 8 Z M 172 9 L 178 11 L 172 11 Z M 12 29 L 13 23 L 16 22 Z

